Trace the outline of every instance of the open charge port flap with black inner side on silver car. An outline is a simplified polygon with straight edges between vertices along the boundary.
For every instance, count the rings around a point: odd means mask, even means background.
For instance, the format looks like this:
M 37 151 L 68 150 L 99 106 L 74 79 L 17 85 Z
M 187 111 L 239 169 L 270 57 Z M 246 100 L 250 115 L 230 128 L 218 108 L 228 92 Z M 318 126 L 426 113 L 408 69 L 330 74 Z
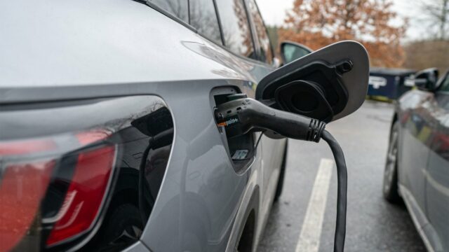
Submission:
M 369 66 L 368 52 L 360 43 L 334 43 L 269 73 L 257 85 L 255 98 L 329 123 L 363 104 Z

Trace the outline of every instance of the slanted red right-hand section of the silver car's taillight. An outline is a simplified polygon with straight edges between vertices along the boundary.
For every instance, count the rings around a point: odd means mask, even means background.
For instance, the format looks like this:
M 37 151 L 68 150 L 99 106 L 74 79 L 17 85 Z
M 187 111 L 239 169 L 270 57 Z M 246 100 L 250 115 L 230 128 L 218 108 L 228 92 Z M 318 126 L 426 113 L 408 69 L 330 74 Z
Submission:
M 46 241 L 48 246 L 91 228 L 104 201 L 114 157 L 114 146 L 79 154 L 58 221 Z

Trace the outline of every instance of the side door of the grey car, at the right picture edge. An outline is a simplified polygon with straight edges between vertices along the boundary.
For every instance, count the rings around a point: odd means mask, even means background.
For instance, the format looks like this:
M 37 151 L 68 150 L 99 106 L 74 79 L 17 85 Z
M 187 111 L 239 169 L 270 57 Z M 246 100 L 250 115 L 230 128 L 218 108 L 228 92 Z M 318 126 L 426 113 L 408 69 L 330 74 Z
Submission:
M 427 219 L 424 227 L 435 251 L 449 250 L 449 77 L 441 80 L 431 102 L 436 122 L 426 174 Z

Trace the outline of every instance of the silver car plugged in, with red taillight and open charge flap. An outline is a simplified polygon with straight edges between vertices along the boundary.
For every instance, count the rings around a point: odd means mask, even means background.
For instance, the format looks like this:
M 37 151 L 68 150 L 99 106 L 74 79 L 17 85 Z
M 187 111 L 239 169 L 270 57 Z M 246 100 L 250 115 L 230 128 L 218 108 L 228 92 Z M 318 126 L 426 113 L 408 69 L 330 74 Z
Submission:
M 0 23 L 0 251 L 255 251 L 287 141 L 228 137 L 217 106 L 330 122 L 366 95 L 354 41 L 274 71 L 255 0 L 2 1 Z

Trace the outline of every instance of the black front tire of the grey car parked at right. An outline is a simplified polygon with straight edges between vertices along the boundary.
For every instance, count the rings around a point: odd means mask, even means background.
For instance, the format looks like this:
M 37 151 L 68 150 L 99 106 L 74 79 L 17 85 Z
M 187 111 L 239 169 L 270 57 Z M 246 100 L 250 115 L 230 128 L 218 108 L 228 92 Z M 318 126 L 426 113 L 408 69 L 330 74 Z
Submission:
M 398 203 L 401 201 L 401 196 L 398 193 L 398 137 L 399 123 L 396 121 L 393 127 L 391 127 L 382 186 L 384 198 L 390 203 Z

